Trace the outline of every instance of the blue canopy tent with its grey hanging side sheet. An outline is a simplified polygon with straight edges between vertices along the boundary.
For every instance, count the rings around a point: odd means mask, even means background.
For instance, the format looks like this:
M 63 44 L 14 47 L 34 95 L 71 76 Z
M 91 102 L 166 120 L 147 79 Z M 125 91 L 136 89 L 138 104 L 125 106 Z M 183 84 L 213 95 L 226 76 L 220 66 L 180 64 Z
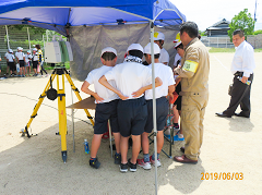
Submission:
M 69 38 L 74 57 L 71 69 L 79 80 L 84 80 L 91 70 L 100 65 L 99 53 L 104 47 L 116 48 L 118 62 L 122 62 L 130 44 L 145 46 L 150 38 L 153 44 L 154 28 L 165 33 L 165 47 L 169 44 L 172 49 L 171 40 L 184 21 L 186 16 L 168 0 L 0 0 L 0 25 L 33 25 Z M 152 66 L 154 81 L 154 63 Z M 153 82 L 156 153 L 154 88 Z

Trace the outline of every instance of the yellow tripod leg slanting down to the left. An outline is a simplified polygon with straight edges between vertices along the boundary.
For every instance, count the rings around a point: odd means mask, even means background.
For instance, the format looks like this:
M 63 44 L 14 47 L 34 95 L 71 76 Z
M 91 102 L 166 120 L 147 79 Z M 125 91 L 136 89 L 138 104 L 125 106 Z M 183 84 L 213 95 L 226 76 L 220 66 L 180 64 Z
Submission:
M 55 76 L 56 76 L 55 74 L 51 74 L 51 81 L 53 81 Z M 44 98 L 46 97 L 46 92 L 47 92 L 49 88 L 50 88 L 50 80 L 48 81 L 48 83 L 47 83 L 47 85 L 46 85 L 46 88 L 44 89 L 43 94 L 40 95 L 39 100 L 38 100 L 38 102 L 36 103 L 35 108 L 34 108 L 34 111 L 33 111 L 33 113 L 32 113 L 32 115 L 31 115 L 31 119 L 29 119 L 28 123 L 27 123 L 26 126 L 25 126 L 25 130 L 22 132 L 23 135 L 26 133 L 26 134 L 27 134 L 27 137 L 31 137 L 31 136 L 29 136 L 29 133 L 28 133 L 28 127 L 29 127 L 33 119 L 35 119 L 35 117 L 37 115 L 37 111 L 38 111 L 38 109 L 40 108 L 40 105 L 41 105 Z

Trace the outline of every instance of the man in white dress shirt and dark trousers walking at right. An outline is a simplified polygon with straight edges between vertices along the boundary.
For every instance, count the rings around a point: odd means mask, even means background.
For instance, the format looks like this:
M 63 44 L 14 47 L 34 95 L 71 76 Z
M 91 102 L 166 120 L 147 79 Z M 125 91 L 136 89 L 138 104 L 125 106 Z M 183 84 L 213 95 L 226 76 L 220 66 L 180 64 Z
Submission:
M 233 33 L 233 44 L 236 47 L 236 53 L 231 63 L 231 73 L 235 75 L 230 94 L 231 99 L 228 108 L 216 114 L 223 118 L 231 118 L 234 114 L 250 118 L 250 89 L 255 68 L 254 51 L 253 47 L 245 40 L 245 34 L 241 29 L 236 29 Z M 235 113 L 239 105 L 241 112 Z

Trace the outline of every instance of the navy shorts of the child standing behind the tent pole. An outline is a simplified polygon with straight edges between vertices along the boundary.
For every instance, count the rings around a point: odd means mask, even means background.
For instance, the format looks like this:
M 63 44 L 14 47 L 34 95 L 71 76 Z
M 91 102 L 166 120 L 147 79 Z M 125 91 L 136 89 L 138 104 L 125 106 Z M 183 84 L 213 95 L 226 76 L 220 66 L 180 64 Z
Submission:
M 153 130 L 153 100 L 146 100 L 147 105 L 147 121 L 145 124 L 145 132 L 151 133 Z M 156 125 L 157 131 L 162 131 L 166 124 L 167 114 L 168 114 L 168 99 L 166 97 L 160 97 L 156 99 Z

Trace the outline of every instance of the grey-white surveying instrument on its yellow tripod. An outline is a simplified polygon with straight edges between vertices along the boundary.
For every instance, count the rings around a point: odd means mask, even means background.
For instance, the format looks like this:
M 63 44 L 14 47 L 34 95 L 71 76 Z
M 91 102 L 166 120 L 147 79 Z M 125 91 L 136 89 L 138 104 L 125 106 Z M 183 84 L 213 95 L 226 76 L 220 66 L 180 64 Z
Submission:
M 52 38 L 53 40 L 55 38 Z M 28 133 L 28 127 L 32 123 L 32 121 L 35 119 L 37 115 L 37 111 L 40 108 L 40 105 L 44 100 L 45 97 L 47 97 L 50 100 L 56 100 L 58 99 L 58 115 L 59 115 L 59 135 L 61 136 L 61 155 L 62 155 L 62 160 L 66 163 L 67 161 L 67 111 L 66 111 L 66 93 L 64 93 L 64 77 L 67 77 L 68 82 L 71 85 L 72 90 L 76 95 L 78 99 L 81 101 L 82 98 L 80 96 L 79 89 L 74 86 L 69 72 L 64 68 L 64 62 L 66 61 L 72 61 L 73 56 L 72 56 L 72 50 L 70 47 L 70 44 L 67 41 L 51 41 L 46 44 L 46 56 L 45 56 L 46 62 L 51 62 L 51 63 L 59 63 L 62 62 L 63 66 L 55 66 L 55 70 L 51 73 L 50 80 L 47 83 L 43 94 L 39 97 L 38 102 L 36 103 L 34 111 L 31 115 L 31 119 L 28 123 L 26 124 L 25 129 L 22 130 L 22 136 L 27 135 L 29 138 L 31 135 Z M 53 80 L 57 78 L 57 90 L 52 88 L 52 82 Z M 93 118 L 91 117 L 90 112 L 87 109 L 84 109 L 87 118 L 90 119 L 91 123 L 94 125 Z

